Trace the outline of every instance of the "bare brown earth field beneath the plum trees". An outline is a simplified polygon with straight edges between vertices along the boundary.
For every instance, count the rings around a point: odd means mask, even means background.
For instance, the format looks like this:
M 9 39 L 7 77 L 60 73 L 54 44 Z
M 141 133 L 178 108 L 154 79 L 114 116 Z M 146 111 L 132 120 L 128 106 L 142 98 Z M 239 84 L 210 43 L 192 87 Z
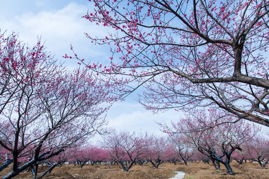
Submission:
M 129 172 L 124 172 L 120 165 L 113 165 L 108 169 L 108 164 L 85 165 L 82 169 L 79 166 L 64 164 L 61 168 L 56 167 L 43 179 L 170 179 L 175 176 L 173 171 L 185 173 L 184 179 L 269 179 L 269 169 L 262 169 L 258 163 L 231 163 L 234 176 L 228 175 L 225 167 L 221 165 L 220 171 L 215 171 L 212 164 L 203 162 L 188 163 L 185 166 L 180 162 L 176 165 L 163 163 L 159 169 L 154 169 L 151 164 L 144 164 L 142 167 L 134 165 Z M 48 167 L 39 166 L 38 175 Z M 0 172 L 0 178 L 10 172 L 11 167 Z M 32 179 L 31 172 L 21 173 L 14 179 Z

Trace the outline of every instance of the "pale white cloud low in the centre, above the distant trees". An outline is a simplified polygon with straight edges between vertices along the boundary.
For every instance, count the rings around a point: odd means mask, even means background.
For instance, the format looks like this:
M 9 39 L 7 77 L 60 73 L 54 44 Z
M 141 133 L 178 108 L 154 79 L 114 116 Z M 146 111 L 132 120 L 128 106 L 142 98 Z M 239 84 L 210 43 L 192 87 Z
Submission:
M 138 102 L 135 103 L 129 100 L 115 103 L 108 112 L 107 120 L 109 121 L 108 127 L 115 128 L 117 131 L 148 132 L 149 134 L 166 136 L 156 122 L 165 122 L 169 125 L 171 121 L 177 121 L 181 116 L 183 116 L 183 113 L 175 110 L 152 114 L 151 111 L 144 109 Z M 93 143 L 101 140 L 100 135 L 96 135 L 91 139 Z

